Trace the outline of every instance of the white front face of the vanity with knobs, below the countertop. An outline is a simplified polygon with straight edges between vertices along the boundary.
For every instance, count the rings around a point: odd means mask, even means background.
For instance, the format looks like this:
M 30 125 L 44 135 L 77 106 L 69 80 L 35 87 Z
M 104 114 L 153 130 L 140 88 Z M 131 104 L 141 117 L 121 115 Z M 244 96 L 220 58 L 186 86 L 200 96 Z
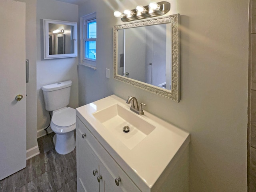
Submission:
M 94 135 L 76 117 L 78 192 L 140 192 Z

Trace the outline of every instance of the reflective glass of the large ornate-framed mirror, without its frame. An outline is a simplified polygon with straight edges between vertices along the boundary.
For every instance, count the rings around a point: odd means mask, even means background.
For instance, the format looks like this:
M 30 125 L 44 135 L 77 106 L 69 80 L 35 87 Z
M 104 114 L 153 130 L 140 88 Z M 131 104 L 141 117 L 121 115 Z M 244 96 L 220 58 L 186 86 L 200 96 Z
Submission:
M 166 58 L 171 52 L 166 46 L 171 44 L 170 27 L 168 23 L 118 30 L 118 75 L 171 90 L 171 63 Z

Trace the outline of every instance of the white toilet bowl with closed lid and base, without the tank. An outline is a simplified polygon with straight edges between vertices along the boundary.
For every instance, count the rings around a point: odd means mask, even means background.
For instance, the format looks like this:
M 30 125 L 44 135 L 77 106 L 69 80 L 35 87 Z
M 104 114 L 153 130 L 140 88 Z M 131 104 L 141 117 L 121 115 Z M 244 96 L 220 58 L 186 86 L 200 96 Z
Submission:
M 66 107 L 53 111 L 50 126 L 55 132 L 53 142 L 56 152 L 63 155 L 72 152 L 76 147 L 76 110 Z

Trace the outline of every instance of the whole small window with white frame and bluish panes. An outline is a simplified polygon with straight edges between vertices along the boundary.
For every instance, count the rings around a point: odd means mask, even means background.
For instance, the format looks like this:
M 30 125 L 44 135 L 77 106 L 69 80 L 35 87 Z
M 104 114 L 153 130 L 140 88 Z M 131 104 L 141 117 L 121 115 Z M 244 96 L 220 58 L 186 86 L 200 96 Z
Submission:
M 96 13 L 81 18 L 81 63 L 96 69 Z

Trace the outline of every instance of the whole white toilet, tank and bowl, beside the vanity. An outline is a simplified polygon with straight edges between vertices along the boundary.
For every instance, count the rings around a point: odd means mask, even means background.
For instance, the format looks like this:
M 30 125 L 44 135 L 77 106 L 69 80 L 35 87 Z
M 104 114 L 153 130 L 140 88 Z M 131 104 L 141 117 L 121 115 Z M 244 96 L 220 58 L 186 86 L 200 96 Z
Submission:
M 50 126 L 56 133 L 53 138 L 55 150 L 68 154 L 76 147 L 76 110 L 67 107 L 72 81 L 64 81 L 42 87 L 46 110 L 52 112 Z

